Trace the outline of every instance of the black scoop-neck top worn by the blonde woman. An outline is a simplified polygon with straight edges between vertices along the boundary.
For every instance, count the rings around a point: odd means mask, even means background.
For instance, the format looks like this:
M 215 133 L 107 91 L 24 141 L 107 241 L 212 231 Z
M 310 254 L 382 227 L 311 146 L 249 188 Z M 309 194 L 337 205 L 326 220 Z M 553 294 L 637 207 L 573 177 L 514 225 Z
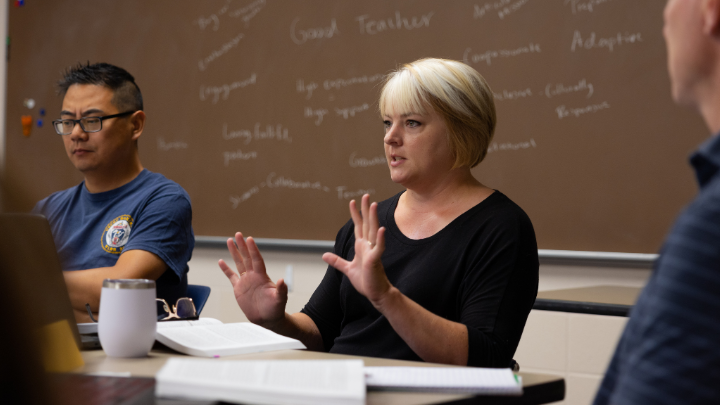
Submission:
M 468 365 L 507 367 L 538 286 L 535 232 L 525 212 L 499 191 L 429 238 L 407 238 L 395 224 L 399 193 L 378 205 L 382 263 L 390 282 L 423 308 L 467 326 Z M 334 252 L 355 255 L 353 223 Z M 421 360 L 388 320 L 333 267 L 302 310 L 332 353 Z M 439 341 L 438 344 L 443 344 Z

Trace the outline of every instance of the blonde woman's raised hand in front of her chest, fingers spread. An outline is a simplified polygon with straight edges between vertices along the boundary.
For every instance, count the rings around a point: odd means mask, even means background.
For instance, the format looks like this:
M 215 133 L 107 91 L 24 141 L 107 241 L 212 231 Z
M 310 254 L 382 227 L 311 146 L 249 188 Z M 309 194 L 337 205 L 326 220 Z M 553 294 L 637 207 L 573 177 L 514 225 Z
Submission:
M 377 203 L 371 205 L 369 195 L 362 197 L 360 209 L 362 215 L 355 201 L 350 201 L 350 215 L 355 224 L 353 260 L 349 262 L 334 253 L 325 253 L 323 260 L 345 274 L 353 287 L 377 307 L 392 288 L 380 261 L 385 251 L 385 228 L 378 229 Z

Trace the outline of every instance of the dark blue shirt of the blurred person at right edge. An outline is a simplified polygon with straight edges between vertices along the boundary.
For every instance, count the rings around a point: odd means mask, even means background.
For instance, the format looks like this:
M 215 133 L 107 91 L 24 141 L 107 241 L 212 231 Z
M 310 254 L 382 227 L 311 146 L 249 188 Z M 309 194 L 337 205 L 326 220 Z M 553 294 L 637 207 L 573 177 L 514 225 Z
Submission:
M 720 134 L 690 162 L 700 193 L 663 245 L 595 405 L 720 403 Z

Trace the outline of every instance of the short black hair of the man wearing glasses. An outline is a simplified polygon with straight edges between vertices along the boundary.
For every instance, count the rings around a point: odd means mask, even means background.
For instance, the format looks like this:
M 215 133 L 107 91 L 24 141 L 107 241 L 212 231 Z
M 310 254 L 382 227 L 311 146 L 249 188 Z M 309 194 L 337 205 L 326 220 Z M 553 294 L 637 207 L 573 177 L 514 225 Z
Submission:
M 58 93 L 65 96 L 73 84 L 94 84 L 113 91 L 112 103 L 119 112 L 142 110 L 142 93 L 135 78 L 125 69 L 109 63 L 94 63 L 69 67 L 58 82 Z

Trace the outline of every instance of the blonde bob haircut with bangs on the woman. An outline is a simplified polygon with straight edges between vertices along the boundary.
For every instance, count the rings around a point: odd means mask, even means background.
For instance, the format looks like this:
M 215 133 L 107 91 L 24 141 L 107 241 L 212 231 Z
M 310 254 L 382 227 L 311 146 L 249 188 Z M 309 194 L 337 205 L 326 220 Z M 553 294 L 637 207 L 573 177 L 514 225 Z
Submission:
M 495 132 L 495 101 L 485 79 L 470 66 L 447 59 L 420 59 L 390 73 L 380 93 L 380 114 L 427 114 L 445 120 L 458 167 L 485 158 Z

